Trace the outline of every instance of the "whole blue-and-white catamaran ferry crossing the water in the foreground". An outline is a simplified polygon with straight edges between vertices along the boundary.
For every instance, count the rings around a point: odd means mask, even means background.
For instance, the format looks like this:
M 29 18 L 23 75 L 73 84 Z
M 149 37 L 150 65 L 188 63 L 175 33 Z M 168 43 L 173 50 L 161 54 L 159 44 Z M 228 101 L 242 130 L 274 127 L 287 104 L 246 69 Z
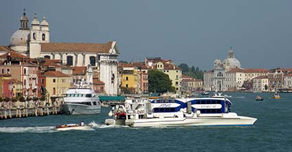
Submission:
M 146 102 L 145 102 L 146 101 Z M 223 96 L 186 99 L 126 101 L 116 105 L 107 125 L 156 126 L 252 126 L 256 118 L 230 112 L 231 101 Z

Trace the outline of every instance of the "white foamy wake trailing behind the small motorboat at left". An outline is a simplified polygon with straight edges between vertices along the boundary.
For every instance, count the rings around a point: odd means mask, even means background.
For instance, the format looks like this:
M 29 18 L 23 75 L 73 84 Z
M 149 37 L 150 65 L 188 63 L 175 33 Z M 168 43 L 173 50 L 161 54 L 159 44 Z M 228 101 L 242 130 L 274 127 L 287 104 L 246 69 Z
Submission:
M 0 133 L 51 133 L 56 132 L 55 126 L 43 127 L 0 127 Z

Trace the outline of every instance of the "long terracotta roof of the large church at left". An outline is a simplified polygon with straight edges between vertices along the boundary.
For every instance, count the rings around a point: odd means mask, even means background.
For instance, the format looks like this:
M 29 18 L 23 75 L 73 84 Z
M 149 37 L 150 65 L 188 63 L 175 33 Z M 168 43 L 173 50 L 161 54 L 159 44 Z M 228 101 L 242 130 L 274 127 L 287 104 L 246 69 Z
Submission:
M 49 42 L 49 43 L 41 43 L 41 51 L 42 52 L 109 53 L 112 44 L 113 42 L 107 42 L 104 44 Z

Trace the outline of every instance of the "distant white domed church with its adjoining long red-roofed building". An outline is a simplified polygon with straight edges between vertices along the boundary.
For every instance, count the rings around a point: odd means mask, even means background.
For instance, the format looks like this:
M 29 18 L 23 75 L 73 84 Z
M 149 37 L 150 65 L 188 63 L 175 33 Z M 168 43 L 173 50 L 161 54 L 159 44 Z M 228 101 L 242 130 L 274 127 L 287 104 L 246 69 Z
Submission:
M 253 79 L 260 75 L 267 75 L 264 68 L 241 68 L 240 62 L 234 57 L 234 51 L 230 47 L 225 59 L 214 61 L 214 69 L 204 73 L 204 89 L 218 91 L 253 91 Z

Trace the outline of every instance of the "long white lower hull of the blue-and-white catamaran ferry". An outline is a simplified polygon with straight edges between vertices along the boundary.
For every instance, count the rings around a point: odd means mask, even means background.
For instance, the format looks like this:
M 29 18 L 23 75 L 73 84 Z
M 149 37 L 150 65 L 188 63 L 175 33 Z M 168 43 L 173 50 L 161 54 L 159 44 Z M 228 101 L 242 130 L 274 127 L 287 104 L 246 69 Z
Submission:
M 256 118 L 236 117 L 185 117 L 185 118 L 145 118 L 128 119 L 126 125 L 131 127 L 164 127 L 164 126 L 252 126 Z

